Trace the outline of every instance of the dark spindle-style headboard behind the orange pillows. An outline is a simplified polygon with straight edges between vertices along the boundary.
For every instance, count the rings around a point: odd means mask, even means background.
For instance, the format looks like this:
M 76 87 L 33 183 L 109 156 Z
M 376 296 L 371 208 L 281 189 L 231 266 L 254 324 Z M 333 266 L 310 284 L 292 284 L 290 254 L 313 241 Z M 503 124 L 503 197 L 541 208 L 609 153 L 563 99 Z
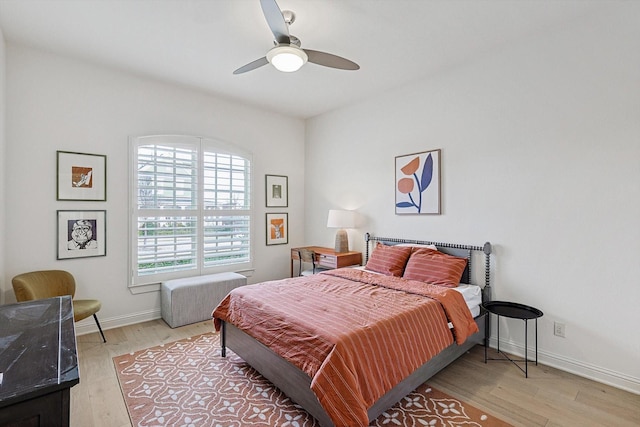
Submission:
M 412 239 L 401 239 L 395 237 L 375 237 L 370 233 L 365 233 L 365 264 L 369 260 L 369 250 L 373 250 L 373 246 L 375 243 L 380 242 L 385 245 L 399 245 L 402 243 L 409 243 L 414 245 L 435 245 L 439 251 L 447 253 L 449 255 L 454 255 L 461 258 L 467 259 L 467 266 L 462 273 L 462 283 L 471 283 L 471 254 L 474 251 L 482 251 L 484 253 L 484 286 L 482 288 L 482 300 L 483 301 L 491 301 L 491 243 L 485 242 L 483 246 L 474 246 L 474 245 L 459 245 L 456 243 L 442 243 L 442 242 L 432 242 L 429 240 L 412 240 Z

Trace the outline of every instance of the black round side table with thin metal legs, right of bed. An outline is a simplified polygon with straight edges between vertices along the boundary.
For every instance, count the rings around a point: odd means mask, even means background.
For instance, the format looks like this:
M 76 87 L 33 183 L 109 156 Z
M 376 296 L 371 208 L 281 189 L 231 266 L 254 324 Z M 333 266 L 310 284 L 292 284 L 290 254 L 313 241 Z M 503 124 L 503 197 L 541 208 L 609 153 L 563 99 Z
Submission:
M 516 360 L 511 359 L 506 353 L 502 353 L 505 358 L 491 359 L 487 358 L 487 347 L 489 346 L 489 315 L 485 318 L 485 341 L 484 341 L 484 363 L 487 360 L 507 360 L 516 365 L 522 372 L 524 372 L 525 378 L 529 377 L 529 358 L 528 345 L 527 345 L 527 322 L 531 319 L 536 321 L 536 365 L 538 364 L 538 317 L 542 317 L 542 311 L 535 307 L 530 307 L 524 304 L 518 304 L 517 302 L 508 301 L 489 301 L 482 304 L 482 307 L 489 313 L 493 313 L 498 316 L 497 331 L 498 331 L 498 353 L 500 353 L 500 316 L 509 317 L 512 319 L 524 320 L 524 359 Z M 518 362 L 524 362 L 524 369 L 518 365 Z

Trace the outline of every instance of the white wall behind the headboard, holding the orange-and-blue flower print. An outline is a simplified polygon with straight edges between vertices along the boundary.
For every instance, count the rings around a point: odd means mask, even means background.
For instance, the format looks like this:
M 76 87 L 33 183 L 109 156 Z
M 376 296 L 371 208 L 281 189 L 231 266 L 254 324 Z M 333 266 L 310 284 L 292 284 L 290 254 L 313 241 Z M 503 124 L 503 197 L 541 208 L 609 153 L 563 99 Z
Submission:
M 640 393 L 640 3 L 611 10 L 310 120 L 305 236 L 332 245 L 339 207 L 357 249 L 490 240 L 494 298 L 544 312 L 541 361 Z M 396 216 L 394 157 L 436 148 L 442 215 Z M 501 324 L 512 351 L 523 335 Z

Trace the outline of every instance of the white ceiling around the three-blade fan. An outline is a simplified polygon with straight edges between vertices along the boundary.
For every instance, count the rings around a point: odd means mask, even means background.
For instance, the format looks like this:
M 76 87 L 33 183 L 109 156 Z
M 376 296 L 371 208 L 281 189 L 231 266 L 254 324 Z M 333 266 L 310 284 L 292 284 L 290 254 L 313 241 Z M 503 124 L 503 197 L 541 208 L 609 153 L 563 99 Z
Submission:
M 302 47 L 358 71 L 271 65 L 259 0 L 0 0 L 9 43 L 29 45 L 308 118 L 553 31 L 608 0 L 278 0 Z

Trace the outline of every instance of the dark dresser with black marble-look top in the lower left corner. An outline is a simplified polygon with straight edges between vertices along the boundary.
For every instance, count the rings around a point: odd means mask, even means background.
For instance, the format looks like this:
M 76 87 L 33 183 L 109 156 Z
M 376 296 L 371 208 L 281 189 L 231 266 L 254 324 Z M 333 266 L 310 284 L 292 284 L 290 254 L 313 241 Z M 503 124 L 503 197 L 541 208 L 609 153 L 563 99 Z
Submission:
M 78 384 L 70 296 L 0 306 L 0 427 L 68 426 Z

